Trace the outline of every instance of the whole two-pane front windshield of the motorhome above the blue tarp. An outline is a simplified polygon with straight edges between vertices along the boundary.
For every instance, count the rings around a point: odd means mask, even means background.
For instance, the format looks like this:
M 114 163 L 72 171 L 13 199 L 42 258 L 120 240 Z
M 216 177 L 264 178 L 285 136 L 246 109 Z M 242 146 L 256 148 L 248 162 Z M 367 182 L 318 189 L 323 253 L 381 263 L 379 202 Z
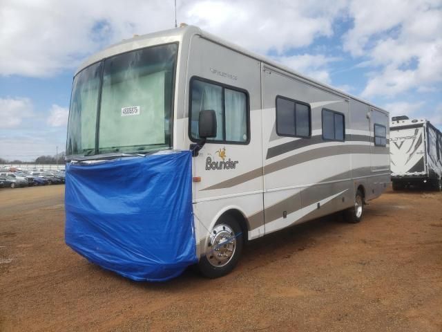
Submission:
M 88 66 L 73 82 L 67 156 L 171 148 L 177 44 L 133 50 Z

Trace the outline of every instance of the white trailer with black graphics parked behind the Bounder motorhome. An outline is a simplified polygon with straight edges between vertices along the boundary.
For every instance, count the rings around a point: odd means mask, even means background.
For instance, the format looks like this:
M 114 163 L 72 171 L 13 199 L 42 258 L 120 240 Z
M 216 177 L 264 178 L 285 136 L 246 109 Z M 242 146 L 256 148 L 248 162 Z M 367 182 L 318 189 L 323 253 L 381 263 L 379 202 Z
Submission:
M 409 185 L 442 190 L 442 133 L 429 121 L 393 117 L 390 154 L 393 190 Z

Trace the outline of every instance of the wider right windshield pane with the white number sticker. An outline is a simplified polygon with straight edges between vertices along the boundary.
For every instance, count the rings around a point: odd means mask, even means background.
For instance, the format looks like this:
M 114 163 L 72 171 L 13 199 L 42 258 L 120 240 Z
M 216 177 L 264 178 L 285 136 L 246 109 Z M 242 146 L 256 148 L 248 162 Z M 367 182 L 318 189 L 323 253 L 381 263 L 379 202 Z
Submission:
M 155 46 L 104 61 L 99 153 L 171 145 L 177 48 L 177 44 Z

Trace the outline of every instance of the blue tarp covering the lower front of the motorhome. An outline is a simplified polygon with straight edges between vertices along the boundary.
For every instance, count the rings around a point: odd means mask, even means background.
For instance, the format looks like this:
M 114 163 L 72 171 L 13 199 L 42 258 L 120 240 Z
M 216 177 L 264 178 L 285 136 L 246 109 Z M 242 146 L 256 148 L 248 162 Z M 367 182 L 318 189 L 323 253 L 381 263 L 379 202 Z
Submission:
M 66 165 L 70 248 L 137 281 L 160 282 L 197 261 L 191 152 Z

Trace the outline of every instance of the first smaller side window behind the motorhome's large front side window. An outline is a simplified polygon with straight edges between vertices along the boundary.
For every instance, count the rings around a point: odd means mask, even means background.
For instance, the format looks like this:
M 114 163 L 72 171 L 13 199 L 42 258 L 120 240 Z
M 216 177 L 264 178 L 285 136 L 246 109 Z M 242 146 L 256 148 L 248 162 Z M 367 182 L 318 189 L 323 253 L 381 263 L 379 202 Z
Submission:
M 276 133 L 279 136 L 309 137 L 310 105 L 285 97 L 276 97 Z

